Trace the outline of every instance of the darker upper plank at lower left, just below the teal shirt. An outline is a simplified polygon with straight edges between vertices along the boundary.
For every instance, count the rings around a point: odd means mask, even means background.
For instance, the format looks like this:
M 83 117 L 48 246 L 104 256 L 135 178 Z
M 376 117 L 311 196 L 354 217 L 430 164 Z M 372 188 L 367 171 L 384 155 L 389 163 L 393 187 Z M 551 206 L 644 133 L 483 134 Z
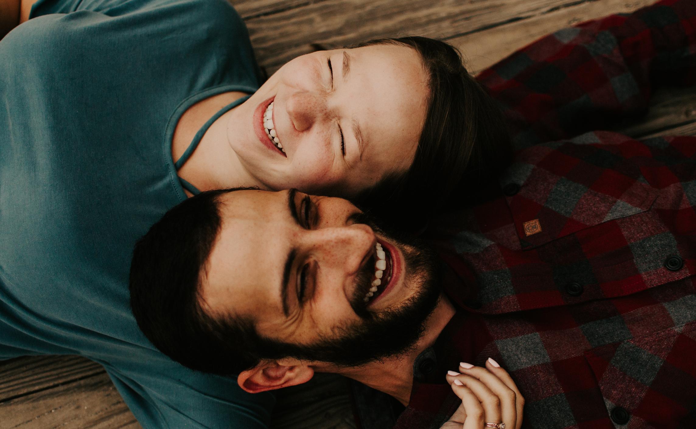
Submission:
M 36 356 L 0 363 L 0 403 L 104 373 L 100 364 L 79 356 Z

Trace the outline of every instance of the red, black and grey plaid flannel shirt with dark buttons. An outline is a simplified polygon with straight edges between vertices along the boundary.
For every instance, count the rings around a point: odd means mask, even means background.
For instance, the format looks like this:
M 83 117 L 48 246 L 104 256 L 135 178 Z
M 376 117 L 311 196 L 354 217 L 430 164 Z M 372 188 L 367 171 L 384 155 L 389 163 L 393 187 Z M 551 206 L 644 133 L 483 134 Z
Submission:
M 696 427 L 696 138 L 591 131 L 696 83 L 696 1 L 558 31 L 480 81 L 519 151 L 500 196 L 435 222 L 459 311 L 396 427 L 438 428 L 460 404 L 445 371 L 488 357 L 523 427 Z

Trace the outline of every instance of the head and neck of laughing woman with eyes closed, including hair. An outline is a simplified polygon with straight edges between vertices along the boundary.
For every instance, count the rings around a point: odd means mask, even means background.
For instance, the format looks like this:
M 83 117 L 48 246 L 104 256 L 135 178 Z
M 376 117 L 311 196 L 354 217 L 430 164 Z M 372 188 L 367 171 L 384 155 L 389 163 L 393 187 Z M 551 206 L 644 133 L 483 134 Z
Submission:
M 408 211 L 398 218 L 408 224 L 446 205 L 455 189 L 484 184 L 509 159 L 496 105 L 456 49 L 437 40 L 314 52 L 242 104 L 226 103 L 241 95 L 208 98 L 182 115 L 173 157 L 189 194 L 296 187 L 353 198 L 382 216 Z

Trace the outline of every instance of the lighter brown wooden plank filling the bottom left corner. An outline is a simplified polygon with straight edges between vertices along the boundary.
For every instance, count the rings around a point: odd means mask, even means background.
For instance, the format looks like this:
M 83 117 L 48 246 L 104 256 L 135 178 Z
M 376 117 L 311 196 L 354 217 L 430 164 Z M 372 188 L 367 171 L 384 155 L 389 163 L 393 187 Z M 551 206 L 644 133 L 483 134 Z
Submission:
M 2 429 L 141 429 L 106 373 L 0 405 Z

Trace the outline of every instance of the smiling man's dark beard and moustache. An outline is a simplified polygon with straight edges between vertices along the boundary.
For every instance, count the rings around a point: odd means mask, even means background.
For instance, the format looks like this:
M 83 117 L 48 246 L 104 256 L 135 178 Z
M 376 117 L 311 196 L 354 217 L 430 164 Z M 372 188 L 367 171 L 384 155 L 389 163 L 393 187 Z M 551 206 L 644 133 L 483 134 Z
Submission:
M 365 289 L 358 287 L 354 297 L 351 297 L 351 306 L 361 317 L 360 322 L 335 327 L 333 336 L 320 336 L 311 345 L 276 344 L 282 348 L 281 354 L 284 356 L 341 367 L 361 366 L 408 352 L 423 334 L 441 292 L 439 273 L 435 269 L 438 266 L 435 253 L 416 238 L 386 233 L 365 214 L 357 214 L 354 219 L 370 225 L 375 232 L 388 237 L 401 249 L 407 268 L 404 284 L 406 288 L 414 290 L 413 295 L 393 309 L 372 313 L 367 311 L 363 302 Z M 373 274 L 374 267 L 368 266 L 364 273 L 358 275 L 358 281 L 370 282 Z

